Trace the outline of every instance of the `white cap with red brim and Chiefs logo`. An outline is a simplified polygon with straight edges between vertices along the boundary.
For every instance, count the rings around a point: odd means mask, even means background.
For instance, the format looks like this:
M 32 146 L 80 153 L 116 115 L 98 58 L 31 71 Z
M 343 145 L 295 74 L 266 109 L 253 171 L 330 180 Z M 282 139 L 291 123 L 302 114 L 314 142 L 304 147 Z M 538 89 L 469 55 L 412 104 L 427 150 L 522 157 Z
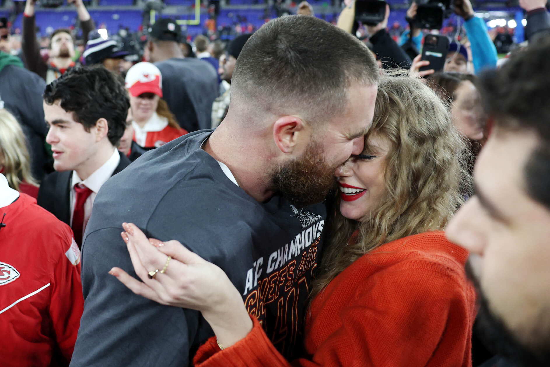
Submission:
M 128 70 L 126 87 L 134 97 L 153 93 L 162 98 L 161 70 L 150 62 L 139 62 Z

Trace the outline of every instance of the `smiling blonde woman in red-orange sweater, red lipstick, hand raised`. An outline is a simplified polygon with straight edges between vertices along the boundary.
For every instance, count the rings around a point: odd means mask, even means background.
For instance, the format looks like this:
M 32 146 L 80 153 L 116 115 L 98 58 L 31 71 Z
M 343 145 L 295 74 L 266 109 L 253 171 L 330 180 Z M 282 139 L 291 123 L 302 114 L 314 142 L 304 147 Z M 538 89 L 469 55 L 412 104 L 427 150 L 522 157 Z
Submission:
M 217 338 L 199 349 L 197 366 L 471 366 L 467 252 L 442 232 L 463 204 L 465 142 L 436 94 L 409 76 L 382 78 L 365 142 L 336 172 L 303 358 L 285 360 L 255 318 L 261 305 L 247 310 L 217 266 L 176 241 L 150 243 L 124 223 L 144 282 L 118 268 L 111 274 L 156 302 L 202 312 Z M 162 271 L 150 279 L 147 269 Z

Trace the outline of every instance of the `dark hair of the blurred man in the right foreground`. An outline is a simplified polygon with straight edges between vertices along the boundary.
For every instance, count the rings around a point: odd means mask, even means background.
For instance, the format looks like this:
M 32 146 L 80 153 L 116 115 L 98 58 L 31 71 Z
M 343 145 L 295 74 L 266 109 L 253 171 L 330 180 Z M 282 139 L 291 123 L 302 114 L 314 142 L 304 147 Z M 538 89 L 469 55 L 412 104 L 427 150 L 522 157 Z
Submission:
M 482 74 L 478 89 L 497 127 L 538 135 L 540 143 L 524 167 L 525 186 L 531 198 L 550 209 L 549 60 L 550 40 L 541 39 L 512 54 L 499 70 Z

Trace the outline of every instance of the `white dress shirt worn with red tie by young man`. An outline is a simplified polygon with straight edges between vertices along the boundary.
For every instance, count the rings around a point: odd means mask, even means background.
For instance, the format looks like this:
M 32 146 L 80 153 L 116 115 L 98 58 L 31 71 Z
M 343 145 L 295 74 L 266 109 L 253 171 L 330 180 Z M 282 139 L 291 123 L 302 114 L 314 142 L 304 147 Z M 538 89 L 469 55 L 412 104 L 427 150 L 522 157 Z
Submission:
M 97 168 L 94 173 L 90 175 L 90 177 L 86 178 L 84 181 L 78 177 L 78 173 L 76 171 L 73 171 L 73 179 L 71 181 L 70 185 L 70 224 L 73 225 L 73 213 L 74 213 L 74 202 L 75 202 L 75 190 L 74 185 L 81 183 L 85 185 L 87 188 L 92 190 L 92 193 L 86 201 L 84 202 L 84 226 L 82 228 L 82 233 L 84 234 L 84 229 L 86 229 L 86 224 L 88 224 L 88 220 L 90 219 L 90 215 L 92 214 L 92 206 L 94 206 L 94 200 L 96 199 L 97 191 L 101 189 L 103 184 L 109 179 L 109 177 L 113 176 L 113 172 L 115 169 L 117 169 L 118 164 L 120 163 L 120 155 L 118 154 L 118 149 L 113 148 L 113 154 L 111 157 L 107 160 L 107 162 L 103 163 L 103 166 L 100 168 Z

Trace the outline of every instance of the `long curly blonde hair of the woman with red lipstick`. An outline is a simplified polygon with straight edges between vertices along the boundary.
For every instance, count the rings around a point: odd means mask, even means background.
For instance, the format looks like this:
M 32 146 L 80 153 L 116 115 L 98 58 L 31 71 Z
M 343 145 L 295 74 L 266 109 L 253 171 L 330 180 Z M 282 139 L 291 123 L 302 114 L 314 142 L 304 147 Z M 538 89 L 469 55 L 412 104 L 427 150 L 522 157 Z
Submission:
M 470 182 L 466 141 L 443 102 L 422 81 L 402 71 L 382 76 L 375 117 L 365 135 L 367 152 L 368 138 L 373 134 L 390 144 L 384 162 L 386 192 L 381 205 L 359 221 L 345 218 L 336 205 L 312 296 L 380 245 L 443 229 L 464 203 L 460 188 Z

